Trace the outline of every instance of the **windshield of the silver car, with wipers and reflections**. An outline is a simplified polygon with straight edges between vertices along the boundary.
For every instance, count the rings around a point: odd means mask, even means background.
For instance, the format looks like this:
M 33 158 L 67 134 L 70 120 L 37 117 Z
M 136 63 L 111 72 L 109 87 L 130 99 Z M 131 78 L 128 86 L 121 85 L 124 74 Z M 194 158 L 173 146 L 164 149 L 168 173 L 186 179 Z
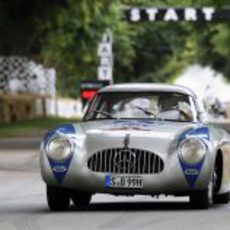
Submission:
M 197 121 L 190 96 L 174 92 L 109 92 L 95 96 L 84 117 L 99 119 L 158 119 Z

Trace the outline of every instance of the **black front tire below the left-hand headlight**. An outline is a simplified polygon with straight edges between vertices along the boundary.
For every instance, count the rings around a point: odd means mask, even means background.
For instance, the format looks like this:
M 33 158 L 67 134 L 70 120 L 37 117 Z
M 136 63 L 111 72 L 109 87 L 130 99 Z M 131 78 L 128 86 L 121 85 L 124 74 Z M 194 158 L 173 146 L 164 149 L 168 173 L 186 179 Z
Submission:
M 47 203 L 51 211 L 67 210 L 70 204 L 69 191 L 64 188 L 47 185 Z

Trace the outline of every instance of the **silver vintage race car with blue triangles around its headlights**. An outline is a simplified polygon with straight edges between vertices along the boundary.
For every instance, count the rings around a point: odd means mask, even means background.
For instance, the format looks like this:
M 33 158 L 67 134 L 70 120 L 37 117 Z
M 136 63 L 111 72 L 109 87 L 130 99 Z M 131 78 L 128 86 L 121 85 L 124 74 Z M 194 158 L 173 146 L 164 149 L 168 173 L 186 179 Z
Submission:
M 188 88 L 105 87 L 81 122 L 60 125 L 42 141 L 48 206 L 87 206 L 96 193 L 189 196 L 194 208 L 227 203 L 229 140 Z

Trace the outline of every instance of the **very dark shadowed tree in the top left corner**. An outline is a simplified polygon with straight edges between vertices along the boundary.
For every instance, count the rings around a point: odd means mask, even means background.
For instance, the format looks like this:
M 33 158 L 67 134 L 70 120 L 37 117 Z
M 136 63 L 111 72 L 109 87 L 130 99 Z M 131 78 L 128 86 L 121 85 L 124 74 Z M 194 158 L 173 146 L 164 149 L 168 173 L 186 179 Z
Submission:
M 2 0 L 0 2 L 1 55 L 36 56 L 41 50 L 44 27 L 65 0 Z

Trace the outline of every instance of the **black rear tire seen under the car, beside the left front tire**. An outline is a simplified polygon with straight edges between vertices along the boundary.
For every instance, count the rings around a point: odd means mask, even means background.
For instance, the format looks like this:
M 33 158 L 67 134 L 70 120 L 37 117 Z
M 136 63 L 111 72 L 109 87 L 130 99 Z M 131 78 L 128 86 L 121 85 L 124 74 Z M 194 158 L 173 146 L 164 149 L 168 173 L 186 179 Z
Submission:
M 90 204 L 92 194 L 73 191 L 71 194 L 71 198 L 76 207 L 87 208 Z

